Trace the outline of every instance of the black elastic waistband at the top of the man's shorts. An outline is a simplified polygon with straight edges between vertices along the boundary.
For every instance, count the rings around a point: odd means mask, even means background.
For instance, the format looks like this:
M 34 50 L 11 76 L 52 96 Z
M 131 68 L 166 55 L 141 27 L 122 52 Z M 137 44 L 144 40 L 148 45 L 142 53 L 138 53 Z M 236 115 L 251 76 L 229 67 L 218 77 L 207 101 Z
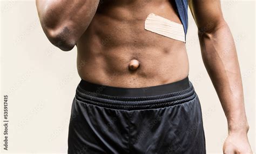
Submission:
M 120 91 L 117 92 L 117 90 Z M 134 93 L 133 90 L 137 93 Z M 196 97 L 196 93 L 188 77 L 177 82 L 159 86 L 144 88 L 102 86 L 102 90 L 100 90 L 100 85 L 82 80 L 76 90 L 76 99 L 78 101 L 100 107 L 124 110 L 173 106 L 174 104 L 190 101 L 194 97 Z

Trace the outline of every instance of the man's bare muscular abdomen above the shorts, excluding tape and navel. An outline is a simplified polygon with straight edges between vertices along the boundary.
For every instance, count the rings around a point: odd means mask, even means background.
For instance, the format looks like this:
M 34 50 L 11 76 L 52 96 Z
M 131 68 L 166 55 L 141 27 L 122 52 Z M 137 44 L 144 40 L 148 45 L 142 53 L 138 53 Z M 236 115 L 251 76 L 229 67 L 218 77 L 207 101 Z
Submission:
M 144 29 L 150 13 L 181 22 L 168 1 L 152 3 L 100 6 L 77 42 L 81 79 L 106 86 L 139 88 L 186 78 L 189 66 L 185 43 Z M 137 69 L 129 68 L 132 60 L 139 62 Z

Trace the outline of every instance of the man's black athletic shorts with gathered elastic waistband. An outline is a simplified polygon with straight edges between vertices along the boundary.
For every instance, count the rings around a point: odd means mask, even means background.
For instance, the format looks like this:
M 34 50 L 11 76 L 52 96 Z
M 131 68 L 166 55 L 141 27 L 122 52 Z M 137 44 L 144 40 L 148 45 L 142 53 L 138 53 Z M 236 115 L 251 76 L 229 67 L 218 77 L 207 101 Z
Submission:
M 119 88 L 82 80 L 72 103 L 68 153 L 206 153 L 192 83 L 187 77 Z

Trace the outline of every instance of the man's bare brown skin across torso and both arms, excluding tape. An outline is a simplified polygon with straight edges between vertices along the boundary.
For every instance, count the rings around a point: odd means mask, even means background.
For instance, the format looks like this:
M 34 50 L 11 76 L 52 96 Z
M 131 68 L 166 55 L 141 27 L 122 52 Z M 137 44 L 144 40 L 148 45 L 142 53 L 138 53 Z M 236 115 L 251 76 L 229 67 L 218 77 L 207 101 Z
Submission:
M 189 2 L 199 30 L 202 58 L 227 117 L 223 151 L 252 153 L 237 52 L 220 1 Z M 131 88 L 162 85 L 188 75 L 185 43 L 144 29 L 150 13 L 181 24 L 173 1 L 37 0 L 36 4 L 51 43 L 63 51 L 77 45 L 81 79 Z M 139 66 L 131 69 L 134 60 Z

